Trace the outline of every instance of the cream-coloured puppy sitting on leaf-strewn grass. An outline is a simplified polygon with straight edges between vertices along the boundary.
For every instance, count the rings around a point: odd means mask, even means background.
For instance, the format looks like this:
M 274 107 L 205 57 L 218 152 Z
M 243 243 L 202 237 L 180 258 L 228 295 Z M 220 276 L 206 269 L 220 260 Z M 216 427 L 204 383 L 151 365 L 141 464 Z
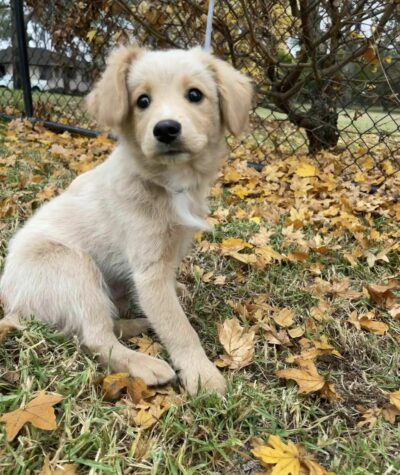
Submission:
M 148 385 L 175 376 L 164 361 L 117 336 L 151 326 L 194 394 L 223 393 L 177 297 L 175 272 L 226 154 L 251 106 L 250 80 L 204 53 L 121 47 L 88 97 L 90 112 L 119 145 L 96 169 L 44 205 L 9 246 L 1 298 L 6 319 L 49 322 Z M 135 295 L 146 319 L 118 320 Z

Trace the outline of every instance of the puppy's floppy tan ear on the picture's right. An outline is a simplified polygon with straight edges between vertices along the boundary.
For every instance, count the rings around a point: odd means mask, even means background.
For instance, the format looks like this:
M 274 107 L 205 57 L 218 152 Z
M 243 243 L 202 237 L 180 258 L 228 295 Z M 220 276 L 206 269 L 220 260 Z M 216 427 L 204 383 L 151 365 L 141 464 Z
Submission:
M 220 59 L 212 57 L 211 67 L 217 81 L 222 121 L 229 132 L 239 135 L 248 125 L 254 95 L 253 83 Z

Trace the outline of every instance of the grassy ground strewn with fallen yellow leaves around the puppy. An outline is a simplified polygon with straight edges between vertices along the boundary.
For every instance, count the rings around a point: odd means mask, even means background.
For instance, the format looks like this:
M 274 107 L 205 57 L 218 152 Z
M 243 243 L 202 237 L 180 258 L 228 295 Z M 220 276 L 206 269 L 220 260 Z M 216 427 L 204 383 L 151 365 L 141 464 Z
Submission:
M 113 143 L 21 122 L 0 132 L 3 259 L 34 209 L 101 162 Z M 48 456 L 53 466 L 76 464 L 77 473 L 267 474 L 272 465 L 260 465 L 252 449 L 270 435 L 302 444 L 336 474 L 400 473 L 400 418 L 389 403 L 400 389 L 396 162 L 383 149 L 361 150 L 353 166 L 347 152 L 312 160 L 246 141 L 232 146 L 211 193 L 213 229 L 196 235 L 179 273 L 207 354 L 225 361 L 227 396 L 166 389 L 157 396 L 169 401 L 166 410 L 149 427 L 128 396 L 104 400 L 99 378 L 107 369 L 75 340 L 32 322 L 0 344 L 0 413 L 40 390 L 64 399 L 55 406 L 56 430 L 28 424 L 8 442 L 0 425 L 1 473 L 39 473 Z M 234 318 L 243 354 L 223 336 Z M 334 385 L 330 392 L 301 394 L 278 377 L 296 362 L 301 368 L 307 351 L 322 384 Z

